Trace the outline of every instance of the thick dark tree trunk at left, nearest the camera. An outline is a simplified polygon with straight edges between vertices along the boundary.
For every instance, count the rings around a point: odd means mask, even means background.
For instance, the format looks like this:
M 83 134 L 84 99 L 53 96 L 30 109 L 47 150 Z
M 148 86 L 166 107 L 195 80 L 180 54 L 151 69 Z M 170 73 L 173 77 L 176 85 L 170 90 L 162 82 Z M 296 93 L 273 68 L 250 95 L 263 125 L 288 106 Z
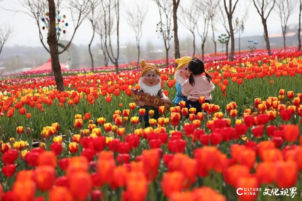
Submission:
M 47 44 L 49 45 L 51 67 L 56 80 L 56 87 L 59 91 L 64 91 L 63 76 L 59 62 L 57 38 L 56 38 L 56 5 L 54 0 L 48 0 L 49 30 Z

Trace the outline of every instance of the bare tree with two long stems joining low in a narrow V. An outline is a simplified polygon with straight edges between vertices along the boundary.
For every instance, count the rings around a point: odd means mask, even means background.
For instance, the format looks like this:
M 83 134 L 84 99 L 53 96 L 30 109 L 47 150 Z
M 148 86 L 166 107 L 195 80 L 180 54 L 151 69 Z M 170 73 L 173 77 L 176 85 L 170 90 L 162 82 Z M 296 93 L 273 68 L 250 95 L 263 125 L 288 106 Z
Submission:
M 106 54 L 110 61 L 115 66 L 116 74 L 118 74 L 118 58 L 120 56 L 120 41 L 119 41 L 119 25 L 120 25 L 120 1 L 119 0 L 101 0 L 101 5 L 104 11 L 104 28 L 105 28 L 105 43 L 104 47 Z M 112 11 L 115 13 L 112 15 Z M 117 35 L 117 53 L 116 56 L 113 54 L 113 48 L 111 43 L 111 33 L 113 27 L 113 16 L 115 15 L 116 20 L 116 35 Z M 108 21 L 107 21 L 108 20 Z M 108 22 L 108 23 L 107 23 Z

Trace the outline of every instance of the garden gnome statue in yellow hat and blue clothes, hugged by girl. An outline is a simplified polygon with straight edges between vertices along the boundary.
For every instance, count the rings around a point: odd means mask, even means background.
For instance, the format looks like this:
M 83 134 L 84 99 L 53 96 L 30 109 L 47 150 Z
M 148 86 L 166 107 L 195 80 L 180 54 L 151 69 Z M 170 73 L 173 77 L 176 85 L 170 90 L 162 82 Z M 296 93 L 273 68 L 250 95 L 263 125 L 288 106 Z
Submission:
M 180 101 L 186 101 L 187 97 L 182 94 L 182 84 L 189 78 L 188 63 L 192 60 L 191 56 L 183 56 L 180 59 L 175 59 L 178 67 L 175 69 L 174 78 L 176 80 L 176 97 L 173 100 L 177 106 Z

